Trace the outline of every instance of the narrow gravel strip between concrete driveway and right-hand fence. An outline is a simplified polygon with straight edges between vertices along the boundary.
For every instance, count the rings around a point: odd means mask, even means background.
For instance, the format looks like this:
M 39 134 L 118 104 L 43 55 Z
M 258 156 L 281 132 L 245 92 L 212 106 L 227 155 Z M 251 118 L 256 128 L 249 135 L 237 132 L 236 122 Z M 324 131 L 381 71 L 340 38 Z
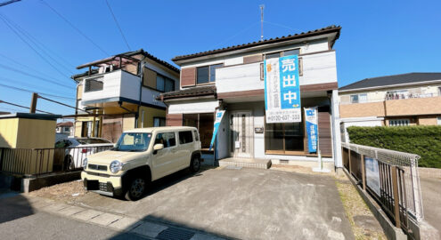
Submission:
M 388 239 L 347 176 L 336 178 L 336 185 L 355 239 Z

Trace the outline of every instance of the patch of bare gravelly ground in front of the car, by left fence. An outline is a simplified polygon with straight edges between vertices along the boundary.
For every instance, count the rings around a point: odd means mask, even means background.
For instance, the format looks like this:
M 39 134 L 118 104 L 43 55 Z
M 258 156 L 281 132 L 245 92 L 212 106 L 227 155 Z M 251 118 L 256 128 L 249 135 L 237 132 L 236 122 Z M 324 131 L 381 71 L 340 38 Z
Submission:
M 75 202 L 79 196 L 85 196 L 86 192 L 83 180 L 74 180 L 51 187 L 41 188 L 29 193 L 30 196 L 39 196 L 61 202 Z

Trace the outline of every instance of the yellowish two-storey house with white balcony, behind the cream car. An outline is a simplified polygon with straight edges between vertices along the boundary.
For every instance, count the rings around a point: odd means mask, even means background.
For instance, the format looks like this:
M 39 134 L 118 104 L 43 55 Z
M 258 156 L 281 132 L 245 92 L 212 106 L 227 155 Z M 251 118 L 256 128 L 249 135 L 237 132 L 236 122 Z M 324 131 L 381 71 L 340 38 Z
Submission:
M 179 69 L 143 49 L 78 66 L 75 136 L 116 142 L 121 132 L 165 125 L 160 92 L 179 89 Z M 86 112 L 87 111 L 87 112 Z

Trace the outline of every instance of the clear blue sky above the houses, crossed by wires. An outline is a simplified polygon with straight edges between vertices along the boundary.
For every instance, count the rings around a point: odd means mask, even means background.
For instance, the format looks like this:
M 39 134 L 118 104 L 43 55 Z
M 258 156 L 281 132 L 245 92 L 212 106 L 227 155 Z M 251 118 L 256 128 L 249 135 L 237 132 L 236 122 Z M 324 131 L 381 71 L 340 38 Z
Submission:
M 441 72 L 441 1 L 108 1 L 131 50 L 143 48 L 169 62 L 176 55 L 259 40 L 258 5 L 265 4 L 265 38 L 342 27 L 334 45 L 339 86 L 372 76 Z M 22 0 L 0 7 L 0 13 L 42 43 L 48 55 L 35 48 L 55 66 L 0 20 L 0 84 L 75 98 L 76 85 L 69 76 L 79 73 L 76 66 L 128 51 L 104 0 Z M 30 95 L 0 85 L 0 100 L 29 106 Z M 75 100 L 56 100 L 75 105 Z M 11 111 L 6 108 L 20 109 L 0 104 L 0 111 Z M 45 100 L 37 108 L 74 113 Z

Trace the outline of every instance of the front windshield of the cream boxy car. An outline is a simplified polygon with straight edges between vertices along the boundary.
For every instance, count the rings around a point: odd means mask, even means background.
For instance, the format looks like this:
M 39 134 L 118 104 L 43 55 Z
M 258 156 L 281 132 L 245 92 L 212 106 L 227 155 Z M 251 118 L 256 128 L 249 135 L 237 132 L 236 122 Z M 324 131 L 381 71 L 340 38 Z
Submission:
M 149 148 L 151 133 L 125 132 L 119 137 L 114 151 L 142 152 Z

